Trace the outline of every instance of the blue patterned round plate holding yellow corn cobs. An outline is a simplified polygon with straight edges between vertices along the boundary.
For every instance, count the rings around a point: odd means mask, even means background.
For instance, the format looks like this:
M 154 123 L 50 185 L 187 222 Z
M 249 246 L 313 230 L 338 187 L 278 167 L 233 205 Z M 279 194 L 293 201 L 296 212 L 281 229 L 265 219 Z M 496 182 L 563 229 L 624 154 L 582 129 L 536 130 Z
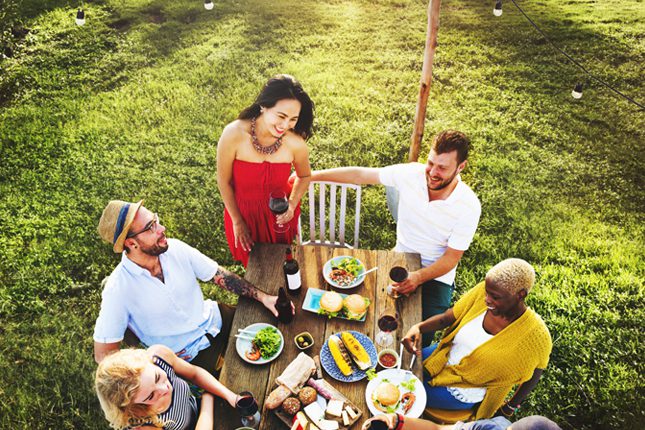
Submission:
M 356 382 L 376 366 L 376 347 L 372 340 L 354 330 L 329 336 L 320 349 L 325 372 L 342 382 Z

